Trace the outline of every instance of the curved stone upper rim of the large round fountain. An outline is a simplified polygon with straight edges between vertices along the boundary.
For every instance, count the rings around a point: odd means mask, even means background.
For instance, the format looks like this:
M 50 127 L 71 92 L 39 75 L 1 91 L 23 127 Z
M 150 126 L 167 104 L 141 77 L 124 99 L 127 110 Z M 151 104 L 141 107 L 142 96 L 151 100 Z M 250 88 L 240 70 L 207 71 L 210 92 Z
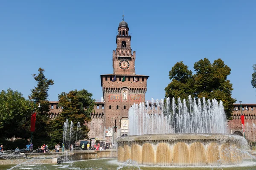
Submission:
M 166 133 L 166 134 L 148 134 L 132 135 L 119 137 L 116 142 L 130 141 L 157 141 L 157 140 L 234 140 L 244 138 L 239 135 L 227 133 Z

